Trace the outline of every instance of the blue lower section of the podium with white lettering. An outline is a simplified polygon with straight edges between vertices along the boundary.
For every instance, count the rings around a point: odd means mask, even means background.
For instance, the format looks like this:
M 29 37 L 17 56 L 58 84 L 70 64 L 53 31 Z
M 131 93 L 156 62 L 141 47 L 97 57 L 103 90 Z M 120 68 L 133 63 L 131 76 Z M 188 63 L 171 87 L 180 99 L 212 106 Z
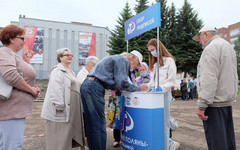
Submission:
M 164 150 L 164 108 L 126 107 L 122 150 Z

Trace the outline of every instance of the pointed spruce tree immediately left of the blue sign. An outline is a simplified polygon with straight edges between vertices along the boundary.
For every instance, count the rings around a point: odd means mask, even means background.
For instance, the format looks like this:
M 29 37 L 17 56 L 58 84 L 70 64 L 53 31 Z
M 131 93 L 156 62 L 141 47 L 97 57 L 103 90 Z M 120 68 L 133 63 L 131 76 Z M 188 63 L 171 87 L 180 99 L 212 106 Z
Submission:
M 124 22 L 133 17 L 131 9 L 128 2 L 126 3 L 123 11 L 120 13 L 120 16 L 117 19 L 117 25 L 115 29 L 111 32 L 109 40 L 109 50 L 110 55 L 120 54 L 127 51 L 127 42 L 125 41 L 124 33 Z M 134 43 L 132 43 L 133 45 Z

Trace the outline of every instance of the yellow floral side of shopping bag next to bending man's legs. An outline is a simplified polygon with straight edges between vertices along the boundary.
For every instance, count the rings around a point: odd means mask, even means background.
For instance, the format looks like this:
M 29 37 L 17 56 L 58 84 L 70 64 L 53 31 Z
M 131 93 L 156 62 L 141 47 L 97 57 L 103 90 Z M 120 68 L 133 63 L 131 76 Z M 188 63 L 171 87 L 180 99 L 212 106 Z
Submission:
M 109 96 L 108 110 L 107 110 L 107 127 L 115 128 L 116 116 L 116 96 Z

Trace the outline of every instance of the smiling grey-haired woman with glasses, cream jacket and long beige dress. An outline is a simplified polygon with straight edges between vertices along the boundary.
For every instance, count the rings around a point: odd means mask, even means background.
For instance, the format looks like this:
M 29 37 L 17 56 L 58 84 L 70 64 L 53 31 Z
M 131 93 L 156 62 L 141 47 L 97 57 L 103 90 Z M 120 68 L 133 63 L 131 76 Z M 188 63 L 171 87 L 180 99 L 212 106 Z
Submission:
M 72 57 L 67 48 L 57 50 L 59 64 L 49 73 L 41 114 L 46 119 L 47 150 L 69 150 L 85 145 L 80 83 L 69 68 Z

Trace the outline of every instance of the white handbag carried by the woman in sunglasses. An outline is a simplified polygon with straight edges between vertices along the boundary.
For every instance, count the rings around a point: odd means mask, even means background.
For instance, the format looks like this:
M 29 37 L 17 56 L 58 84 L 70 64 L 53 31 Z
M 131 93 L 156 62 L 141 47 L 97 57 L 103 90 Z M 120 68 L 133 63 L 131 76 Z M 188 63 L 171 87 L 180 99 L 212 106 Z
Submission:
M 11 85 L 9 85 L 2 77 L 2 75 L 0 75 L 0 99 L 1 100 L 8 100 L 9 97 L 12 94 L 12 89 L 13 87 Z

